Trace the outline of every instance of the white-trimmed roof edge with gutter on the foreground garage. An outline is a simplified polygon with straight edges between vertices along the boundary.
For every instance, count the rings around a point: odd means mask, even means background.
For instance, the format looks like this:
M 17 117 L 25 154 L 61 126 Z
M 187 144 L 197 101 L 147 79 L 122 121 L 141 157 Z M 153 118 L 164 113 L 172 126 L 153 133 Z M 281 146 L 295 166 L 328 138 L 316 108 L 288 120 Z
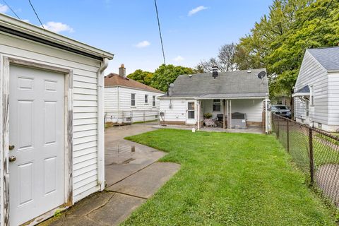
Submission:
M 28 40 L 47 44 L 76 54 L 82 54 L 93 59 L 113 59 L 114 57 L 113 54 L 105 52 L 102 49 L 97 49 L 83 42 L 72 40 L 69 37 L 45 30 L 2 13 L 0 13 L 0 32 L 23 37 Z

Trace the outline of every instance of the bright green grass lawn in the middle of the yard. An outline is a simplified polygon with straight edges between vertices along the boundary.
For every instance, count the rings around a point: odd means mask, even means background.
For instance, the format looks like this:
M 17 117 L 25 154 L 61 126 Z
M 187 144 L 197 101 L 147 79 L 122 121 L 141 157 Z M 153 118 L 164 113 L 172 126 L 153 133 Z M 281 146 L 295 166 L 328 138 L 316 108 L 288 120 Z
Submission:
M 336 225 L 274 136 L 160 129 L 127 139 L 182 167 L 122 225 Z

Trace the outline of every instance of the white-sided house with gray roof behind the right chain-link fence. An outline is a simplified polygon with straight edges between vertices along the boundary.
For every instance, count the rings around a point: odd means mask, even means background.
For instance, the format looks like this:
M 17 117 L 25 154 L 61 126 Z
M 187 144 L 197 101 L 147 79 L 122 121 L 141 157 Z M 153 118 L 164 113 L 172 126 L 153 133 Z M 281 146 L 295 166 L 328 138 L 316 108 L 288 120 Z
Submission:
M 296 121 L 339 130 L 339 47 L 306 50 L 292 96 Z

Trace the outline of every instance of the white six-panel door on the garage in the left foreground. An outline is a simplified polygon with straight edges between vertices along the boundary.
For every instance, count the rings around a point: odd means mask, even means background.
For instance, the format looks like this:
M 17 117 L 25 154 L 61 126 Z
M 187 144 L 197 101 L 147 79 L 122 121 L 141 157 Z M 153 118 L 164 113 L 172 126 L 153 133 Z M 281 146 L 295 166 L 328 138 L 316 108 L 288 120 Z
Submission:
M 65 202 L 64 79 L 61 73 L 10 67 L 10 225 Z

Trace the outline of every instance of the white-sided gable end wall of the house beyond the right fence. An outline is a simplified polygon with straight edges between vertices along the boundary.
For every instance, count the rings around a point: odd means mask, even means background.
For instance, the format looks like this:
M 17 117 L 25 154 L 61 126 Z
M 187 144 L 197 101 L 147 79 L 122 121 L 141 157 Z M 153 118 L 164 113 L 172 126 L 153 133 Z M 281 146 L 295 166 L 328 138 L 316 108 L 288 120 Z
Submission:
M 309 121 L 328 124 L 328 76 L 326 69 L 309 53 L 305 52 L 295 90 L 314 85 L 314 105 L 309 107 Z M 310 90 L 311 91 L 311 90 Z M 295 97 L 296 119 L 306 119 L 306 102 Z

